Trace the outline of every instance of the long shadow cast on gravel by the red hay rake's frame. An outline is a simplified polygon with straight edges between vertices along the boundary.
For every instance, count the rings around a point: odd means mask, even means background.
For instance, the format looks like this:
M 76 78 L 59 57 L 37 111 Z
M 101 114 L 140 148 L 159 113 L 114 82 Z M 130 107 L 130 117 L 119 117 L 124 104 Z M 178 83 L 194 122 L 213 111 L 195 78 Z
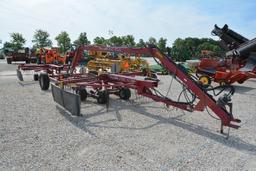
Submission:
M 94 104 L 97 105 L 97 104 Z M 105 106 L 104 106 L 105 107 Z M 144 129 L 149 129 L 152 128 L 154 126 L 160 125 L 160 124 L 171 124 L 174 125 L 176 127 L 182 128 L 186 131 L 189 131 L 191 133 L 209 138 L 211 140 L 214 140 L 220 144 L 223 144 L 227 147 L 230 148 L 234 148 L 237 149 L 239 151 L 246 151 L 249 152 L 252 155 L 256 155 L 256 145 L 255 144 L 250 144 L 248 142 L 243 141 L 242 139 L 232 136 L 229 136 L 229 139 L 226 139 L 226 137 L 220 133 L 215 133 L 215 132 L 211 132 L 211 130 L 202 127 L 202 126 L 198 126 L 192 123 L 187 123 L 184 122 L 182 119 L 179 119 L 180 116 L 176 116 L 176 117 L 163 117 L 160 115 L 155 115 L 152 114 L 150 112 L 147 111 L 146 107 L 140 106 L 140 104 L 131 104 L 129 102 L 125 102 L 125 101 L 115 101 L 114 104 L 111 105 L 109 111 L 110 112 L 116 112 L 116 117 L 117 120 L 119 120 L 121 118 L 121 114 L 120 114 L 120 110 L 132 110 L 136 113 L 139 113 L 141 115 L 144 115 L 146 117 L 150 117 L 152 119 L 156 120 L 156 123 L 145 126 L 145 127 L 140 127 L 140 128 L 136 128 L 136 127 L 127 127 L 127 126 L 107 126 L 107 125 L 103 125 L 106 122 L 112 122 L 115 121 L 115 119 L 109 119 L 109 120 L 105 120 L 105 121 L 101 121 L 101 122 L 90 122 L 88 120 L 88 118 L 90 117 L 94 117 L 94 116 L 99 116 L 102 114 L 106 114 L 106 109 L 105 108 L 101 108 L 100 110 L 98 110 L 97 112 L 95 112 L 94 114 L 90 114 L 90 115 L 85 115 L 82 117 L 76 117 L 76 116 L 71 116 L 69 113 L 67 113 L 65 110 L 63 110 L 62 108 L 60 108 L 59 106 L 57 106 L 57 109 L 60 111 L 60 113 L 67 118 L 67 120 L 69 120 L 74 126 L 80 128 L 81 130 L 89 133 L 92 136 L 97 137 L 93 132 L 91 132 L 88 128 L 90 127 L 98 127 L 98 128 L 110 128 L 110 129 L 129 129 L 129 130 L 144 130 Z M 120 119 L 121 120 L 121 119 Z

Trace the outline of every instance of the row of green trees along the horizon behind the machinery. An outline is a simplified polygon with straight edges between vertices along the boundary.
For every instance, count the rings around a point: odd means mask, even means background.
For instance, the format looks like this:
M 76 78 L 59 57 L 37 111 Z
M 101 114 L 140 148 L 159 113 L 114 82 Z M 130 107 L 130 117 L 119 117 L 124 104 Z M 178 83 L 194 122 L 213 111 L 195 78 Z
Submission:
M 3 49 L 12 49 L 18 50 L 24 48 L 26 39 L 21 33 L 11 33 L 11 40 L 3 44 Z M 50 40 L 50 35 L 47 31 L 36 30 L 32 43 L 33 48 L 43 48 L 43 47 L 52 47 L 52 41 Z M 89 45 L 91 42 L 87 38 L 87 33 L 82 32 L 78 38 L 71 42 L 69 34 L 66 31 L 62 31 L 59 35 L 55 37 L 57 45 L 60 48 L 62 53 L 67 52 L 73 46 L 78 47 L 79 45 Z M 0 43 L 2 43 L 0 41 Z M 150 37 L 147 41 L 139 39 L 138 42 L 135 42 L 133 35 L 126 36 L 111 36 L 106 39 L 104 37 L 95 37 L 93 39 L 93 44 L 105 45 L 105 46 L 126 46 L 126 47 L 145 47 L 146 44 L 156 45 L 162 52 L 172 56 L 174 60 L 185 61 L 196 57 L 201 53 L 201 50 L 209 50 L 213 52 L 222 51 L 219 41 L 215 41 L 210 38 L 177 38 L 172 46 L 167 46 L 167 39 L 161 37 L 157 40 L 154 37 Z

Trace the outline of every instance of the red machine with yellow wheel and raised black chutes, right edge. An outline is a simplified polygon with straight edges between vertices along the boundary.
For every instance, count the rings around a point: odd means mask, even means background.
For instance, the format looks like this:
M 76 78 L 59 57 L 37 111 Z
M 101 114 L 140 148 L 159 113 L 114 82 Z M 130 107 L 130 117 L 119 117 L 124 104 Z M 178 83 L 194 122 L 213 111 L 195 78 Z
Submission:
M 220 37 L 228 51 L 225 59 L 202 59 L 197 67 L 199 80 L 207 87 L 212 80 L 225 85 L 256 78 L 256 39 L 248 40 L 227 25 L 222 29 L 215 25 L 212 34 Z

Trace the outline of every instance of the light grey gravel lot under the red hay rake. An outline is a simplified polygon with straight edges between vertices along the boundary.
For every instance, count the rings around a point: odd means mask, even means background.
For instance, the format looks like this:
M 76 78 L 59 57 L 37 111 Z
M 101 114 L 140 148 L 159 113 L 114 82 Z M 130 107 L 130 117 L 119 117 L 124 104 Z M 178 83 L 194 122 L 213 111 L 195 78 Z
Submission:
M 19 83 L 16 68 L 0 62 L 0 170 L 256 170 L 256 80 L 235 84 L 242 126 L 226 139 L 206 112 L 166 109 L 135 94 L 111 96 L 108 112 L 88 99 L 83 116 L 73 117 L 32 76 Z M 171 78 L 160 78 L 167 90 Z M 171 93 L 178 89 L 173 83 Z

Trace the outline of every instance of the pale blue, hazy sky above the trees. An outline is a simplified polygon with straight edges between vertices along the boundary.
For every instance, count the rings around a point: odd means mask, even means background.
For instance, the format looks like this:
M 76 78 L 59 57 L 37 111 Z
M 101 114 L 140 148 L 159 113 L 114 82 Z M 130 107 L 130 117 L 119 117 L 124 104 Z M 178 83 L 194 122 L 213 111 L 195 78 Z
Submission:
M 254 0 L 1 0 L 0 39 L 9 41 L 10 33 L 20 32 L 31 46 L 36 29 L 48 31 L 52 40 L 67 31 L 72 41 L 80 32 L 91 41 L 108 38 L 112 30 L 136 41 L 164 37 L 171 45 L 178 37 L 212 37 L 214 24 L 225 23 L 253 38 L 255 10 Z

